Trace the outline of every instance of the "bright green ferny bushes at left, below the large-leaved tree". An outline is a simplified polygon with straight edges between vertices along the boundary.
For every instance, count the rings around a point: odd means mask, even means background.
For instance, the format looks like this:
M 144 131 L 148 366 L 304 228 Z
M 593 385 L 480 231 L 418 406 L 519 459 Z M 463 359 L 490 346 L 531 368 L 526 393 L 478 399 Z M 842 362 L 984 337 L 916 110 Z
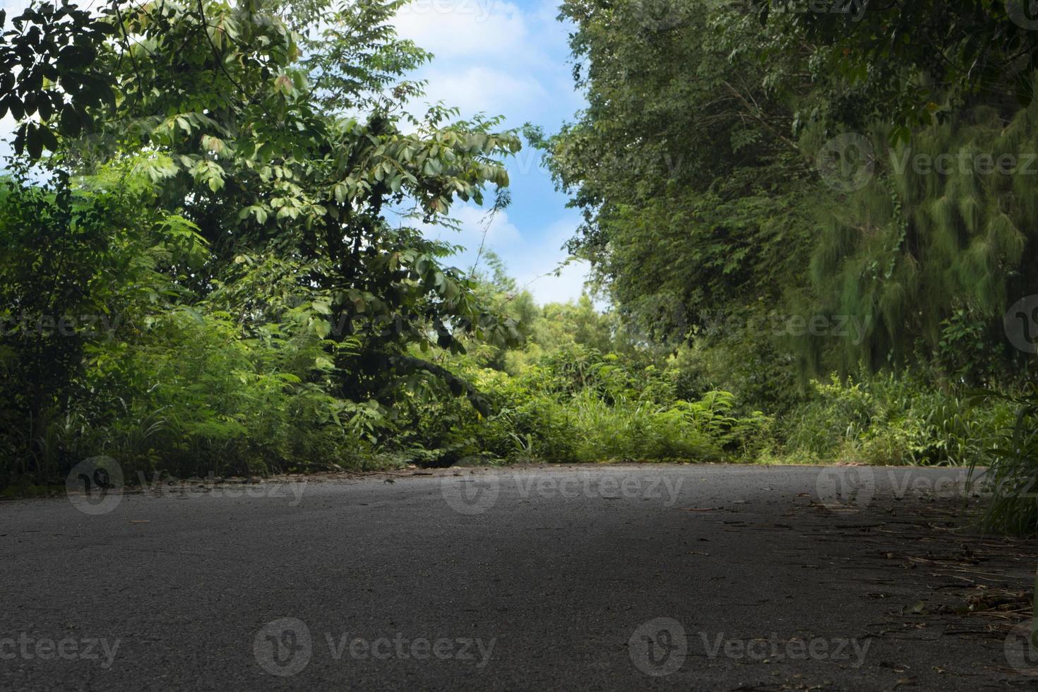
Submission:
M 384 412 L 329 393 L 351 342 L 321 337 L 312 296 L 262 324 L 195 298 L 204 242 L 149 201 L 132 177 L 0 181 L 0 488 L 102 454 L 130 479 L 358 464 Z

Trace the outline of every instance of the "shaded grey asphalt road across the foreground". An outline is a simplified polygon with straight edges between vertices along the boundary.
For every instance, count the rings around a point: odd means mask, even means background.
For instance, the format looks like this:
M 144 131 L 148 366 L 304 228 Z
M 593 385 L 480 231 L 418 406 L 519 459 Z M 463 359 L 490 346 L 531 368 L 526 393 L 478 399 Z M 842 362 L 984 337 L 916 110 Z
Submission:
M 963 531 L 960 481 L 535 467 L 2 502 L 0 689 L 1030 685 L 1026 603 L 960 606 L 1029 598 L 1038 551 Z

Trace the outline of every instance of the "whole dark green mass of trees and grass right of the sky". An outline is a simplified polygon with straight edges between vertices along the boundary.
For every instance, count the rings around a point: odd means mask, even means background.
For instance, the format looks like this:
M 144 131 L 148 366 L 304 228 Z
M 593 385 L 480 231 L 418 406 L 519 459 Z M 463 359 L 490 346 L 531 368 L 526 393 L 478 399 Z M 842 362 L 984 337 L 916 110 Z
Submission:
M 772 413 L 764 459 L 1000 446 L 1010 405 L 967 392 L 1020 390 L 1034 353 L 1026 4 L 562 4 L 588 108 L 528 134 L 583 211 L 571 250 L 693 388 Z

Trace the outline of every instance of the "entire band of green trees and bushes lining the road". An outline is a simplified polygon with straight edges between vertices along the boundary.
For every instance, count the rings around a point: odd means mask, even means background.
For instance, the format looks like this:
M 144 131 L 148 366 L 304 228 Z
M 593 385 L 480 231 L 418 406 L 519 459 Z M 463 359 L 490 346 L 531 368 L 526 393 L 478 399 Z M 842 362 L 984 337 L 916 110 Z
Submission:
M 589 107 L 556 133 L 416 107 L 397 0 L 0 16 L 0 488 L 993 463 L 989 524 L 1035 530 L 1038 37 L 780 4 L 566 0 Z M 576 302 L 424 232 L 507 207 L 524 139 L 584 214 Z

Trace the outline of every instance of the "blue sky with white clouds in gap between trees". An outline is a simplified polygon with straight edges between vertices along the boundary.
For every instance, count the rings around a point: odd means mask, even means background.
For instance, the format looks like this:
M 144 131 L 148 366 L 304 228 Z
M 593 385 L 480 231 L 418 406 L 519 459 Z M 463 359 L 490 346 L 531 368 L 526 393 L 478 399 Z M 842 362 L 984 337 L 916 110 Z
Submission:
M 27 0 L 0 0 L 0 8 L 20 12 Z M 426 102 L 442 101 L 461 109 L 503 115 L 506 127 L 532 122 L 556 132 L 583 100 L 574 90 L 568 61 L 568 27 L 556 20 L 557 0 L 414 0 L 397 17 L 401 36 L 432 52 L 435 59 L 411 78 L 429 82 Z M 415 110 L 424 110 L 416 102 Z M 0 121 L 0 136 L 12 129 Z M 6 146 L 0 144 L 0 154 Z M 580 295 L 586 267 L 574 264 L 559 277 L 542 276 L 567 258 L 562 245 L 573 236 L 579 214 L 566 209 L 540 156 L 524 149 L 509 164 L 512 205 L 491 222 L 486 246 L 504 259 L 520 285 L 539 302 L 566 301 Z M 486 210 L 458 205 L 453 212 L 461 232 L 433 229 L 430 234 L 469 249 L 453 264 L 468 269 L 483 239 Z

